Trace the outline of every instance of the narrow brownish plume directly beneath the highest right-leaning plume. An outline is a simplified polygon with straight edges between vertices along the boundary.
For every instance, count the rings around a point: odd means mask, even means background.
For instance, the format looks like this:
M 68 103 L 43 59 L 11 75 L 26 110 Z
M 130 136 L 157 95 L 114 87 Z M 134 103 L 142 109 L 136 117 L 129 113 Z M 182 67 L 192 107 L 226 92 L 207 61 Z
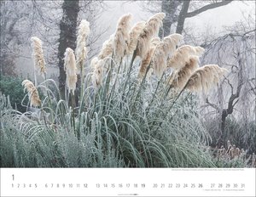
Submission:
M 154 50 L 156 46 L 160 43 L 160 37 L 154 37 L 150 42 L 150 48 L 148 50 L 146 58 L 144 58 L 141 62 L 140 70 L 138 73 L 138 78 L 143 79 L 143 77 L 146 74 L 146 70 L 148 68 L 148 65 L 150 64 L 150 61 L 152 59 L 152 56 L 154 54 Z M 151 68 L 150 68 L 151 69 Z M 152 69 L 150 70 L 150 73 L 152 72 Z

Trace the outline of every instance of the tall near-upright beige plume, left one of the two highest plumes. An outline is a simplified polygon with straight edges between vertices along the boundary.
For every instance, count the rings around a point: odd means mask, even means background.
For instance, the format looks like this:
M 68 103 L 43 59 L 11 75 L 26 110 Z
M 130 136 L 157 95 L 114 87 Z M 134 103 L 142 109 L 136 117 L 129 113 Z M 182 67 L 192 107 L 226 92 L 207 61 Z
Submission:
M 131 28 L 131 14 L 123 15 L 118 22 L 113 38 L 113 53 L 117 61 L 128 53 L 129 31 Z

